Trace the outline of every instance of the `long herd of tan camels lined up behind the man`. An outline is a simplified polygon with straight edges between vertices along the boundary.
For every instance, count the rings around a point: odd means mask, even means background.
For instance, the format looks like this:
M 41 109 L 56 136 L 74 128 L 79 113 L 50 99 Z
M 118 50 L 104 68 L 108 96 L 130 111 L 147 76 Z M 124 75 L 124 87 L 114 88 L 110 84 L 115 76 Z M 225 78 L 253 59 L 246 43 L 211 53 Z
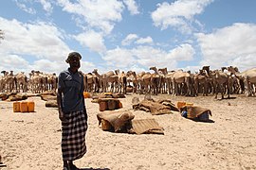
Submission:
M 192 74 L 182 70 L 168 71 L 167 68 L 150 67 L 154 73 L 134 71 L 109 71 L 99 74 L 98 69 L 92 73 L 83 74 L 85 91 L 89 93 L 169 93 L 174 95 L 196 96 L 199 93 L 208 95 L 221 93 L 246 93 L 255 96 L 256 68 L 240 73 L 237 67 L 222 67 L 220 70 L 210 70 L 204 66 L 198 73 Z M 43 93 L 56 92 L 58 76 L 31 71 L 29 77 L 21 72 L 16 75 L 12 71 L 2 71 L 0 76 L 0 93 L 23 92 Z

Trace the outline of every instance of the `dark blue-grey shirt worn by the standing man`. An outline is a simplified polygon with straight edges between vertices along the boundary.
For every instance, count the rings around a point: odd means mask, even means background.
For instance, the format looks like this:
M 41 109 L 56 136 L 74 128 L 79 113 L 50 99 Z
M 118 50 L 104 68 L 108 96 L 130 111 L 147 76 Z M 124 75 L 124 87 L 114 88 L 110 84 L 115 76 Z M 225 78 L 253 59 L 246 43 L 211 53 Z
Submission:
M 60 73 L 58 89 L 62 90 L 62 106 L 64 113 L 83 110 L 83 76 L 67 69 Z

